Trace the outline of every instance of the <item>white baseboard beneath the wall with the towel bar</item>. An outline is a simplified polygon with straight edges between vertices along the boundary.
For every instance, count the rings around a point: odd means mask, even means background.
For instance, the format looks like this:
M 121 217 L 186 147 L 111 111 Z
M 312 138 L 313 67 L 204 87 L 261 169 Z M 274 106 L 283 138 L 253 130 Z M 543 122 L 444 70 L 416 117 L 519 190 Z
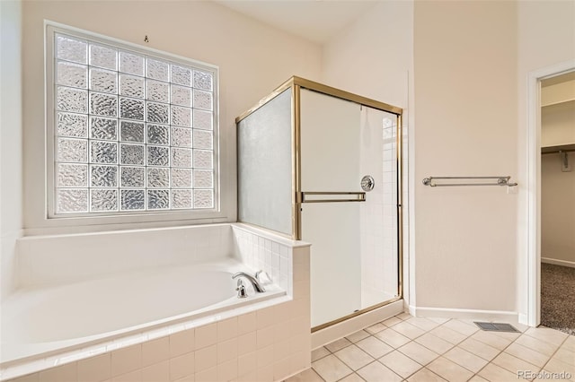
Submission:
M 415 317 L 478 319 L 482 321 L 503 321 L 519 323 L 519 314 L 507 310 L 479 310 L 456 308 L 426 308 L 410 306 L 410 314 Z

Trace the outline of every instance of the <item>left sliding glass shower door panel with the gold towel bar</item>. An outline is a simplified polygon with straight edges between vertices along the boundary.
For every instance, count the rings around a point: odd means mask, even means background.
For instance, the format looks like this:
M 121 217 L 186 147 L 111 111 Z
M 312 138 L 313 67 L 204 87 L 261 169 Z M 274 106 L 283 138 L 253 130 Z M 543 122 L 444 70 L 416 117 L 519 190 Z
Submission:
M 300 113 L 302 192 L 360 192 L 360 106 L 302 90 Z M 302 239 L 312 243 L 312 327 L 361 308 L 359 204 L 301 204 Z

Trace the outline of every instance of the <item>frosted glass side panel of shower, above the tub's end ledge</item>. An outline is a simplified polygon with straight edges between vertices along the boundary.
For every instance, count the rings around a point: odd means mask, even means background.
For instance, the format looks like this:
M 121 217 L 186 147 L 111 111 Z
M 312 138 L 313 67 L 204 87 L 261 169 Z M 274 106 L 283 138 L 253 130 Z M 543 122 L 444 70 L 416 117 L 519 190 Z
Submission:
M 291 89 L 238 124 L 238 220 L 292 235 Z

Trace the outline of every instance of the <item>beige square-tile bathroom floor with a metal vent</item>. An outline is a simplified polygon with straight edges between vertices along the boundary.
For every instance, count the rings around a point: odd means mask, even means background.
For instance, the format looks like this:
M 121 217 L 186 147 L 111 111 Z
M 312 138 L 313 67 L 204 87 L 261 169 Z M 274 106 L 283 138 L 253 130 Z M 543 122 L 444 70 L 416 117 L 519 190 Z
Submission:
M 575 336 L 515 327 L 403 313 L 314 350 L 312 368 L 286 382 L 575 381 Z

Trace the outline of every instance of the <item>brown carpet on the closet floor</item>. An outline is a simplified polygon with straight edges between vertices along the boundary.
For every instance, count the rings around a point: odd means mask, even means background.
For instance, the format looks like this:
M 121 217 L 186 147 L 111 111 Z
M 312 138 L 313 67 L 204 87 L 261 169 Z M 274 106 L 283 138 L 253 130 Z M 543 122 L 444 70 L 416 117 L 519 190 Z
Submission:
M 575 335 L 575 268 L 541 264 L 541 325 Z

